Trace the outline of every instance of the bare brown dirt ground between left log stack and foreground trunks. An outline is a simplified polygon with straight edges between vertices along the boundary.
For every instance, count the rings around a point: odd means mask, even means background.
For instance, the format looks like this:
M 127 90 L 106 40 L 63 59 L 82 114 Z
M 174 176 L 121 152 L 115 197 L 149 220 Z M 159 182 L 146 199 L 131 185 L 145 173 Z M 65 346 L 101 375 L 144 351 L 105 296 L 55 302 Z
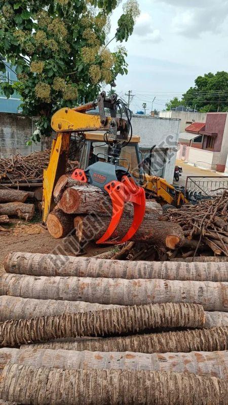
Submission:
M 18 219 L 10 219 L 9 225 L 4 225 L 7 232 L 0 231 L 0 273 L 3 269 L 4 258 L 10 251 L 31 253 L 61 253 L 76 255 L 66 251 L 64 239 L 54 239 L 46 229 L 41 226 L 40 220 L 26 223 Z M 110 247 L 98 247 L 90 243 L 85 247 L 83 256 L 94 256 L 109 250 Z M 76 252 L 75 252 L 76 253 Z

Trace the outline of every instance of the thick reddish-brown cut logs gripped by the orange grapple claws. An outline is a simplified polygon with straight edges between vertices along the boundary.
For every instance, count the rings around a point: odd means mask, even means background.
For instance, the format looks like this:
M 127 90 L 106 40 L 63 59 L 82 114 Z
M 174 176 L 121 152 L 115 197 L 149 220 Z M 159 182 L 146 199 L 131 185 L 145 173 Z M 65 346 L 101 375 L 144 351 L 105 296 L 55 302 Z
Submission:
M 112 204 L 109 196 L 97 187 L 87 185 L 63 175 L 54 190 L 57 204 L 49 214 L 47 227 L 54 238 L 63 238 L 70 232 L 80 246 L 89 241 L 97 241 L 107 230 L 112 214 Z M 175 249 L 184 243 L 184 235 L 178 224 L 161 222 L 161 205 L 146 202 L 144 220 L 132 241 L 159 246 L 161 249 Z M 125 210 L 116 231 L 112 235 L 113 241 L 121 240 L 131 227 L 133 206 L 125 205 Z

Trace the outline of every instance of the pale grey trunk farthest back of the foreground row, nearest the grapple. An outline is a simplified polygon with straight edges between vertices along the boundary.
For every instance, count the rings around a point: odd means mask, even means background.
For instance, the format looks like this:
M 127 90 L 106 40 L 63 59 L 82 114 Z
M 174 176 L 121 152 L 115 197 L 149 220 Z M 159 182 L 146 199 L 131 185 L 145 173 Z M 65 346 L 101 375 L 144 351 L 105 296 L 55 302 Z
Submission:
M 94 257 L 9 252 L 7 273 L 33 276 L 228 281 L 228 263 L 127 262 Z

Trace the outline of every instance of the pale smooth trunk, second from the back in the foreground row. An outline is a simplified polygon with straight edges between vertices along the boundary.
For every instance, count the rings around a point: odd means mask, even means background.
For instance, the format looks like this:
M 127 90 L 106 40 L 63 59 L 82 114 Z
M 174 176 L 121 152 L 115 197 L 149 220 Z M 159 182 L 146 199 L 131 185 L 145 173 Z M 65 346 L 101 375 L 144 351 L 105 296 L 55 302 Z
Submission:
M 2 296 L 97 304 L 194 303 L 203 305 L 206 311 L 228 312 L 227 293 L 227 282 L 36 277 L 7 273 L 0 278 Z

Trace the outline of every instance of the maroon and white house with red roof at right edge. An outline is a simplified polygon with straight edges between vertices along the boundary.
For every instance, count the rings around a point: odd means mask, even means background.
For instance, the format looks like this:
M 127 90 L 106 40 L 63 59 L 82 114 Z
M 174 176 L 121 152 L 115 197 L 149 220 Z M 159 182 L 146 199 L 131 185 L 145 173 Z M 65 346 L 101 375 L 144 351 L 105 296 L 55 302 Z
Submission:
M 207 113 L 205 122 L 188 125 L 180 133 L 177 158 L 224 172 L 228 153 L 227 116 L 227 113 Z

